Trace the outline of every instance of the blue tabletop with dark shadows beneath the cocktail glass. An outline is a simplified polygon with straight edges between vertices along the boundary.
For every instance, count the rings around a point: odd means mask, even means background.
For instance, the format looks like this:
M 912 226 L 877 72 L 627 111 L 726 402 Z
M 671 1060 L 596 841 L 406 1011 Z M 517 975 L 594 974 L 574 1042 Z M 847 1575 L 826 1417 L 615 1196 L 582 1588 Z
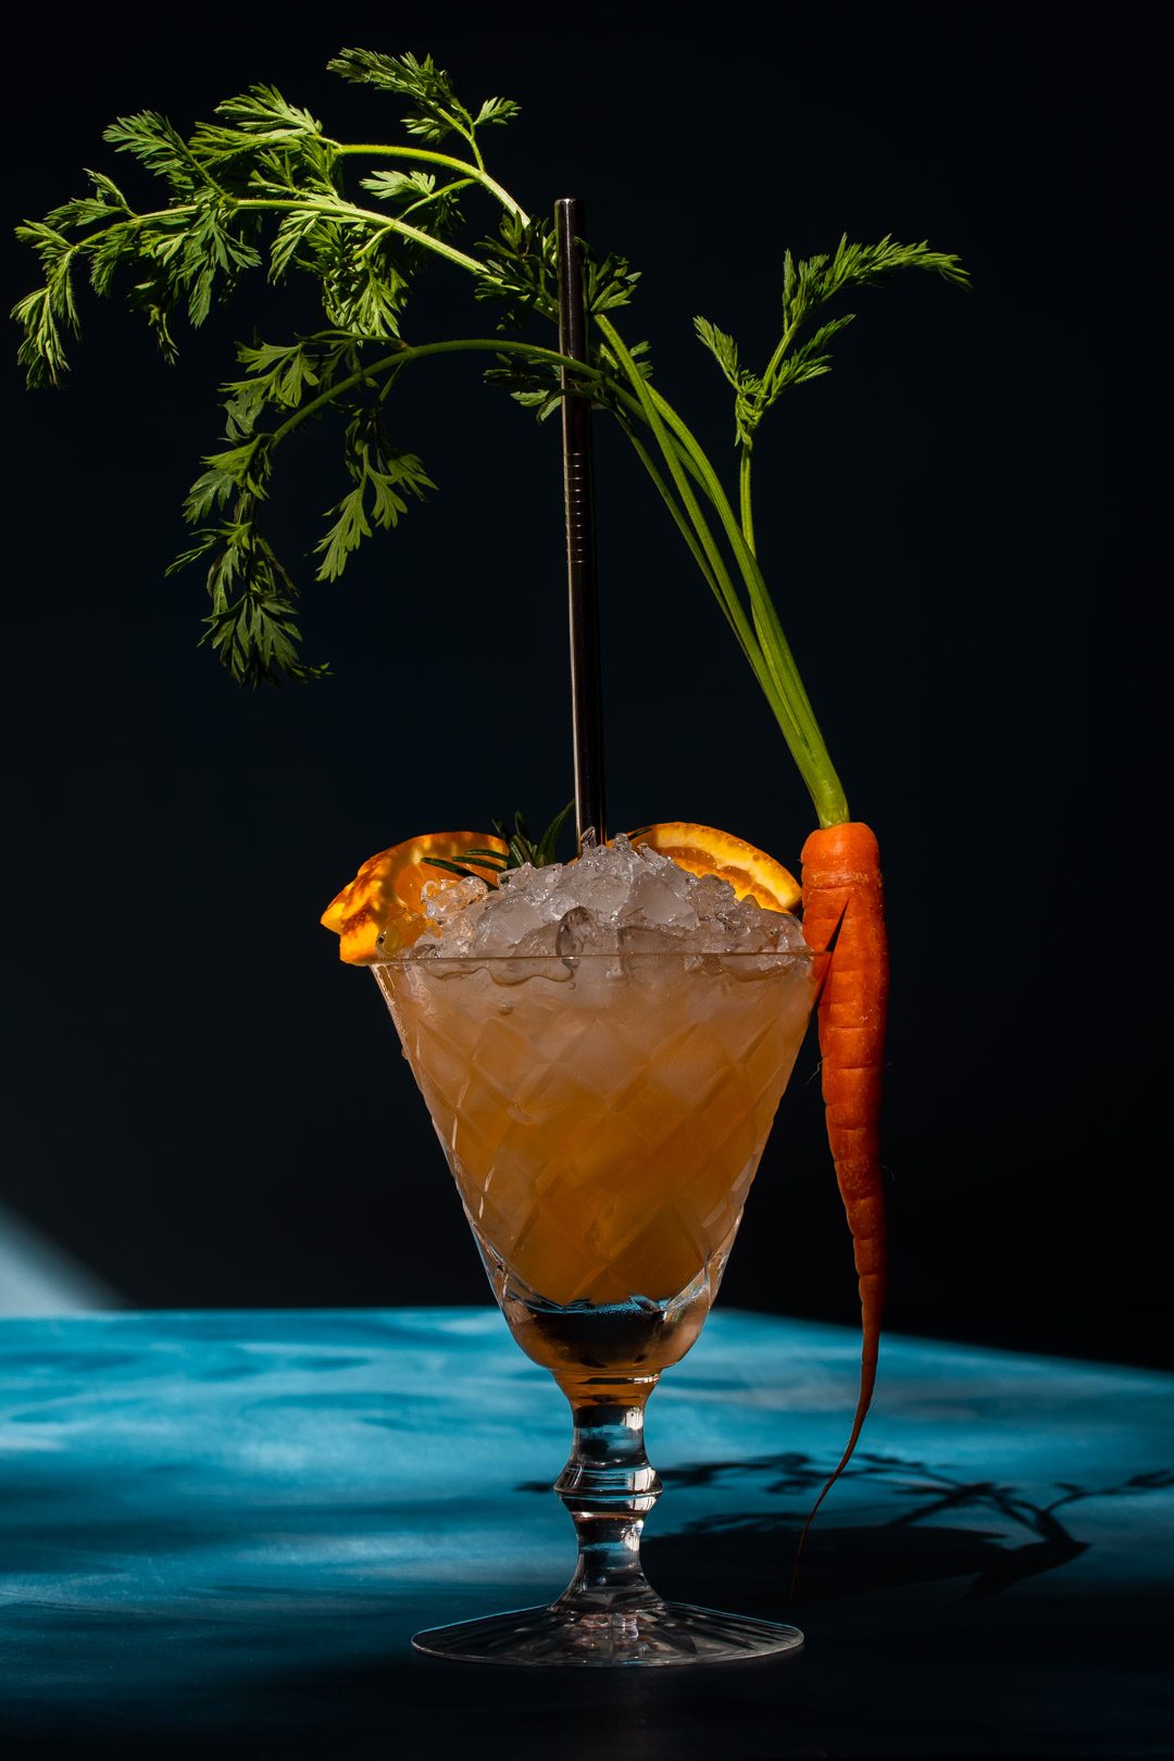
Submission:
M 0 1754 L 1165 1756 L 1174 1377 L 718 1312 L 648 1414 L 665 1594 L 790 1659 L 491 1669 L 412 1631 L 547 1601 L 567 1409 L 493 1310 L 0 1323 Z

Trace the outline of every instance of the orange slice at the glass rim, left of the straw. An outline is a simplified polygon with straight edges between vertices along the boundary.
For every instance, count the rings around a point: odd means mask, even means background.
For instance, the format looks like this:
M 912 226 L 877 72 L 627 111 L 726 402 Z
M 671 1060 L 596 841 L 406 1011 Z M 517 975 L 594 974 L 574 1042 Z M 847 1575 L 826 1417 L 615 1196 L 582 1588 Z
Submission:
M 421 838 L 405 838 L 389 851 L 368 856 L 354 880 L 322 912 L 326 928 L 338 933 L 340 960 L 363 967 L 398 947 L 410 947 L 428 926 L 421 903 L 428 882 L 445 886 L 456 880 L 444 868 L 431 868 L 428 858 L 463 863 L 468 851 L 507 854 L 502 838 L 488 831 L 426 831 Z M 481 870 L 475 863 L 468 866 L 493 884 L 491 870 Z M 378 949 L 375 944 L 384 930 L 389 933 Z

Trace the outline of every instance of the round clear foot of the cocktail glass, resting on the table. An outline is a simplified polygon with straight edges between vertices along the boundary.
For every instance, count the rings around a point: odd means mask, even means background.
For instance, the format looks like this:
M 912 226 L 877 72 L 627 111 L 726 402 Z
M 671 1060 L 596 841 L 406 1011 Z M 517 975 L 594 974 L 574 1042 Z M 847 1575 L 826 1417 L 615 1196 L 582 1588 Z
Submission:
M 415 1650 L 451 1662 L 512 1662 L 561 1666 L 737 1662 L 776 1657 L 803 1645 L 799 1627 L 748 1615 L 723 1615 L 688 1603 L 584 1610 L 519 1608 L 486 1620 L 417 1632 Z

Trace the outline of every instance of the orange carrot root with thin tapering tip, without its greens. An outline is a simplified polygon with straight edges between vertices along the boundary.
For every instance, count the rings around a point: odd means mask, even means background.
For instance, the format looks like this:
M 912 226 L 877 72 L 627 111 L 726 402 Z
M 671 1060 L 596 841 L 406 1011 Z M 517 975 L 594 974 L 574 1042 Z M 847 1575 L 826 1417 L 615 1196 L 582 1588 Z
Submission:
M 803 845 L 803 933 L 820 984 L 818 1034 L 827 1141 L 852 1231 L 861 1289 L 861 1393 L 848 1446 L 811 1518 L 852 1460 L 877 1382 L 885 1301 L 885 1212 L 880 1182 L 880 1071 L 889 995 L 889 942 L 877 838 L 859 821 L 824 826 Z

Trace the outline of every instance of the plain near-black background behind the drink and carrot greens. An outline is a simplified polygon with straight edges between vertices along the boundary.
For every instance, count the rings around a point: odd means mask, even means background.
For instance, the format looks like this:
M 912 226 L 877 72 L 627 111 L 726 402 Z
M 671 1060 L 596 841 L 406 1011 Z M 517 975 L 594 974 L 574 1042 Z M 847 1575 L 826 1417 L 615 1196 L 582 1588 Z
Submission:
M 598 245 L 644 269 L 625 335 L 651 338 L 715 456 L 730 412 L 693 312 L 764 357 L 785 245 L 959 252 L 970 296 L 912 273 L 859 296 L 836 372 L 780 407 L 757 465 L 767 578 L 887 861 L 891 1323 L 1155 1361 L 1158 14 L 1116 9 L 1105 35 L 1031 5 L 769 26 L 625 7 L 577 48 L 498 18 L 25 21 L 11 218 L 113 169 L 114 114 L 187 129 L 255 79 L 338 137 L 394 139 L 400 106 L 324 65 L 431 51 L 466 100 L 521 100 L 489 134 L 507 187 L 532 210 L 579 192 Z M 33 282 L 14 248 L 9 298 Z M 246 285 L 167 370 L 86 299 L 67 389 L 9 368 L 0 1203 L 130 1305 L 486 1298 L 384 1006 L 317 917 L 371 851 L 514 807 L 544 821 L 570 792 L 558 433 L 472 361 L 417 368 L 396 424 L 442 493 L 329 588 L 310 551 L 338 442 L 290 451 L 271 530 L 334 676 L 243 694 L 195 648 L 199 572 L 162 571 L 232 340 L 299 324 L 296 298 Z M 486 326 L 438 268 L 405 331 Z M 602 430 L 598 453 L 611 824 L 699 819 L 797 866 L 811 815 L 781 736 L 625 444 Z M 815 1057 L 725 1300 L 850 1319 Z

